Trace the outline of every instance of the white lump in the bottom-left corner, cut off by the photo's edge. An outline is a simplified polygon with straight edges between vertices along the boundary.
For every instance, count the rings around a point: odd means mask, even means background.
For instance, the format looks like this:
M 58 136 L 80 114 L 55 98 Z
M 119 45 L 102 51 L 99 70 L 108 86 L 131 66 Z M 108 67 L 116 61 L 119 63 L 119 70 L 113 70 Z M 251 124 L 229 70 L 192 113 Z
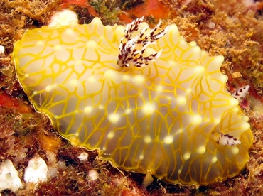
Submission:
M 23 185 L 13 163 L 9 159 L 4 160 L 0 165 L 0 192 L 5 189 L 16 192 L 21 187 Z

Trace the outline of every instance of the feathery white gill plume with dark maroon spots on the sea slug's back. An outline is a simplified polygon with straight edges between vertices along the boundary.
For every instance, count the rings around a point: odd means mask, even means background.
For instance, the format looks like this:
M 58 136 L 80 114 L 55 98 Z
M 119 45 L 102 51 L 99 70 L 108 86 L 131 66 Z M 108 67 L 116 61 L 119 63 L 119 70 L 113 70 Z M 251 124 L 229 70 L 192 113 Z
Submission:
M 141 23 L 144 17 L 136 18 L 136 20 L 129 23 L 124 31 L 124 36 L 119 44 L 118 65 L 120 67 L 145 67 L 149 62 L 154 62 L 161 55 L 159 52 L 145 55 L 145 50 L 150 44 L 155 44 L 156 40 L 163 37 L 168 31 L 169 26 L 166 26 L 160 31 L 161 23 L 158 23 L 153 29 L 142 28 Z

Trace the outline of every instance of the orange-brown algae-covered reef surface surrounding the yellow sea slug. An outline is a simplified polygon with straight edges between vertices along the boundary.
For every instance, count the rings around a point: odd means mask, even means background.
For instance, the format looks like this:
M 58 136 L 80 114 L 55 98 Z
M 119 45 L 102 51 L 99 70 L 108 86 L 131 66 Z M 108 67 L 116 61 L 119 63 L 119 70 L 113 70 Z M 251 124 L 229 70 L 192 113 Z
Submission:
M 127 1 L 114 1 L 114 4 L 108 0 L 98 2 L 97 6 L 100 7 L 103 2 L 107 2 L 104 4 L 107 9 L 97 9 L 93 4 L 89 5 L 92 1 L 82 0 L 1 2 L 0 45 L 4 46 L 5 51 L 0 55 L 0 162 L 11 160 L 23 184 L 17 191 L 6 187 L 5 190 L 0 190 L 1 194 L 11 195 L 15 192 L 17 195 L 31 195 L 33 192 L 37 195 L 262 195 L 262 3 L 246 1 L 254 4 L 251 9 L 235 0 L 132 1 L 134 4 L 129 7 L 123 6 Z M 151 3 L 150 8 L 146 6 L 147 2 Z M 92 18 L 98 16 L 102 23 L 110 25 L 124 25 L 145 16 L 144 21 L 153 28 L 159 22 L 154 13 L 163 9 L 156 2 L 164 4 L 165 13 L 168 13 L 164 18 L 161 16 L 161 29 L 176 23 L 180 34 L 188 42 L 194 40 L 211 56 L 224 56 L 220 70 L 228 77 L 226 87 L 231 94 L 249 85 L 249 94 L 240 102 L 242 111 L 249 116 L 254 136 L 253 146 L 249 150 L 249 162 L 238 175 L 222 183 L 183 186 L 171 185 L 154 178 L 154 182 L 144 189 L 144 183 L 141 182 L 145 174 L 119 170 L 109 161 L 102 160 L 101 156 L 97 157 L 98 151 L 72 146 L 70 141 L 60 137 L 58 132 L 52 129 L 48 116 L 34 111 L 17 80 L 11 55 L 14 43 L 21 39 L 27 29 L 47 25 L 54 12 L 68 8 L 77 13 L 79 23 L 90 23 Z M 134 12 L 136 8 L 139 9 L 139 15 Z M 141 13 L 143 14 L 140 15 Z M 80 161 L 79 156 L 82 153 L 88 154 L 87 160 Z M 23 177 L 29 161 L 36 156 L 40 156 L 47 163 L 48 179 L 32 187 Z M 97 180 L 90 178 L 92 170 L 97 171 Z

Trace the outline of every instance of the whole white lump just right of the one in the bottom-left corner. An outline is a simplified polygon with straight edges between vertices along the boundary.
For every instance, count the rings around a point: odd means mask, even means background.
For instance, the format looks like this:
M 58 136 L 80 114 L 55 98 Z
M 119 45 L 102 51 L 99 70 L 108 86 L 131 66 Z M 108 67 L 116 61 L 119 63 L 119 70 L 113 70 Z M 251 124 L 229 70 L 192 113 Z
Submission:
M 39 183 L 47 178 L 48 165 L 41 157 L 35 157 L 29 160 L 28 167 L 25 170 L 23 180 L 26 183 Z

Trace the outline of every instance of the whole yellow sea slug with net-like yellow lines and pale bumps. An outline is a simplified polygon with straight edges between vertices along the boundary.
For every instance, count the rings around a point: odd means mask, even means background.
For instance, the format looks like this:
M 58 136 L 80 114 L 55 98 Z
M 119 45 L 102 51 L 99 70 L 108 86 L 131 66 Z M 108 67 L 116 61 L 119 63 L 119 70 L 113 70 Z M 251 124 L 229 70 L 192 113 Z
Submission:
M 16 43 L 14 62 L 36 111 L 118 168 L 208 185 L 249 159 L 252 131 L 225 88 L 223 57 L 187 43 L 175 24 L 43 26 Z

